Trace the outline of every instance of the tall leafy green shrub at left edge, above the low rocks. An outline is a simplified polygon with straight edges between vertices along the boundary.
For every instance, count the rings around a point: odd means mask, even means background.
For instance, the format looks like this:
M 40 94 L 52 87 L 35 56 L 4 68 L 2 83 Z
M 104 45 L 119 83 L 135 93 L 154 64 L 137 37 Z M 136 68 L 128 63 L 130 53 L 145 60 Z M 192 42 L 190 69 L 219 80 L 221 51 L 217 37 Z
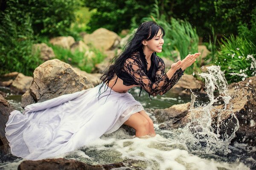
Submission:
M 9 15 L 2 15 L 0 25 L 0 72 L 18 71 L 32 76 L 33 71 L 42 63 L 39 54 L 31 55 L 32 45 L 36 42 L 30 18 L 25 16 L 24 23 L 17 25 Z

